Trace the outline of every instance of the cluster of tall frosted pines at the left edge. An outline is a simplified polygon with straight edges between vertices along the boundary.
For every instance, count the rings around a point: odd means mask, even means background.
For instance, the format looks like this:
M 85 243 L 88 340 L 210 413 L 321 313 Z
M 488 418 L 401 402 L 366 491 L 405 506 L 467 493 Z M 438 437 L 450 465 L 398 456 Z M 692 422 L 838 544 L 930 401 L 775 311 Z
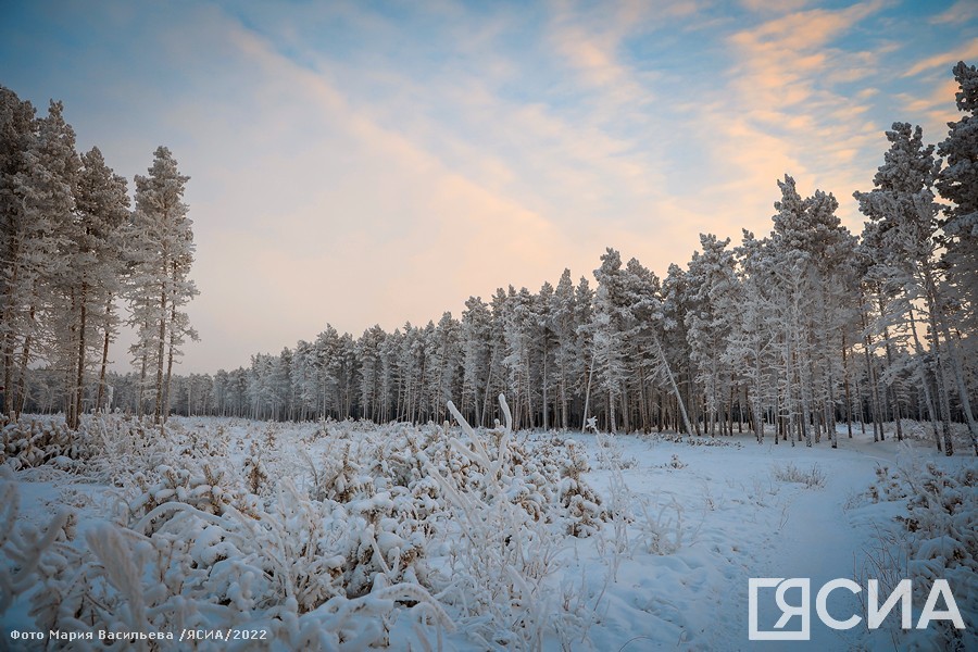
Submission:
M 109 347 L 125 323 L 136 333 L 136 409 L 159 423 L 179 347 L 197 337 L 183 310 L 197 294 L 188 177 L 160 147 L 135 178 L 134 210 L 101 151 L 76 151 L 63 112 L 52 101 L 38 116 L 0 86 L 0 414 L 38 410 L 41 376 L 58 385 L 45 409 L 72 428 L 84 410 L 108 406 Z

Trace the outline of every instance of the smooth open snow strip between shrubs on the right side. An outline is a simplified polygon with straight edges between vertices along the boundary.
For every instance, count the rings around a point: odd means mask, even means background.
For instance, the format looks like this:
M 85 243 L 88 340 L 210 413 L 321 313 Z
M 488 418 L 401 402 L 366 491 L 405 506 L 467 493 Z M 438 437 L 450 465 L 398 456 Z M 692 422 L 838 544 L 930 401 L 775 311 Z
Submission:
M 640 638 L 599 637 L 599 649 L 631 641 L 626 649 L 849 650 L 866 642 L 860 638 L 862 627 L 836 631 L 823 625 L 815 595 L 827 581 L 853 579 L 862 570 L 865 551 L 875 544 L 875 528 L 854 523 L 845 506 L 874 481 L 877 464 L 893 462 L 894 447 L 847 440 L 832 450 L 827 443 L 807 449 L 740 441 L 742 448 L 713 448 L 618 438 L 623 459 L 638 462 L 623 473 L 629 489 L 659 504 L 676 498 L 685 509 L 690 540 L 669 555 L 632 551 L 623 567 L 625 577 L 635 579 L 610 589 L 605 626 Z M 673 455 L 686 466 L 669 468 Z M 775 479 L 775 469 L 789 464 L 805 473 L 817 467 L 824 486 Z M 593 475 L 605 490 L 607 472 L 599 468 Z M 811 579 L 810 641 L 749 639 L 751 577 Z M 789 604 L 799 599 L 799 590 L 787 594 Z M 760 625 L 770 629 L 780 616 L 774 589 L 761 592 L 758 605 Z M 828 607 L 840 620 L 863 613 L 858 597 L 844 590 L 831 593 Z M 794 617 L 786 629 L 799 627 Z

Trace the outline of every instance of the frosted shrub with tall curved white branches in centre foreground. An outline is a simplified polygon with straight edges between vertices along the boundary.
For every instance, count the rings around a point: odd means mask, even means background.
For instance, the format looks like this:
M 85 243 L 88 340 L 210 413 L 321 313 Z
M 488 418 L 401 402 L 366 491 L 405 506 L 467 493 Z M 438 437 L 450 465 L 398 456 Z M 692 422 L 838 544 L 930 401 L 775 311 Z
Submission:
M 549 627 L 546 579 L 557 568 L 562 538 L 547 524 L 546 510 L 554 507 L 552 492 L 537 492 L 526 473 L 514 464 L 512 419 L 505 399 L 504 428 L 476 432 L 450 402 L 462 428 L 451 449 L 467 465 L 425 455 L 428 475 L 451 504 L 451 574 L 442 578 L 440 594 L 462 610 L 462 625 L 480 648 L 540 649 Z M 460 481 L 460 472 L 471 476 Z M 528 505 L 531 503 L 532 506 Z

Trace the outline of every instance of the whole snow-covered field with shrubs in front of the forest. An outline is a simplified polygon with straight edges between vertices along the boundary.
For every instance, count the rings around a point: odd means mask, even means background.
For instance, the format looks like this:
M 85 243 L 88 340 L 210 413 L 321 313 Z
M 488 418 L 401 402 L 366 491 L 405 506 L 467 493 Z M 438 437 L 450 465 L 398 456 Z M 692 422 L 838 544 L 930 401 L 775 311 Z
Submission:
M 905 424 L 905 442 L 856 429 L 832 450 L 118 416 L 68 437 L 26 419 L 0 467 L 0 649 L 978 650 L 978 465 Z M 749 639 L 752 577 L 811 578 L 811 641 Z M 901 630 L 898 605 L 869 631 L 867 580 L 882 601 L 904 577 L 915 626 L 929 577 L 967 628 L 939 601 L 926 629 Z M 816 616 L 837 578 L 863 587 L 829 595 L 837 619 L 864 618 L 852 629 Z M 770 629 L 774 589 L 757 602 Z

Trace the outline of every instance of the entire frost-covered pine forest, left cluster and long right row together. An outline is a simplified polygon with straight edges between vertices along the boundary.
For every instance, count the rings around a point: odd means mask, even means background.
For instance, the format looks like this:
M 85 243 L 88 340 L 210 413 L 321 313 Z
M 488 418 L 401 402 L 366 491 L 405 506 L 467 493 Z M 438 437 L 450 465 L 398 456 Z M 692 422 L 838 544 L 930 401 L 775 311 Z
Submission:
M 327 325 L 247 366 L 185 376 L 188 178 L 161 147 L 130 210 L 98 149 L 75 152 L 61 104 L 36 117 L 0 89 L 3 413 L 441 423 L 451 400 L 491 426 L 504 393 L 516 428 L 836 447 L 854 428 L 883 438 L 885 422 L 902 438 L 913 419 L 948 455 L 964 424 L 978 453 L 978 71 L 953 74 L 961 116 L 940 142 L 906 123 L 886 133 L 854 193 L 861 234 L 830 192 L 802 197 L 786 174 L 768 234 L 702 235 L 663 278 L 609 248 L 593 284 L 565 269 L 537 291 L 471 297 L 459 318 L 360 337 Z M 108 360 L 123 325 L 137 334 L 125 374 Z

